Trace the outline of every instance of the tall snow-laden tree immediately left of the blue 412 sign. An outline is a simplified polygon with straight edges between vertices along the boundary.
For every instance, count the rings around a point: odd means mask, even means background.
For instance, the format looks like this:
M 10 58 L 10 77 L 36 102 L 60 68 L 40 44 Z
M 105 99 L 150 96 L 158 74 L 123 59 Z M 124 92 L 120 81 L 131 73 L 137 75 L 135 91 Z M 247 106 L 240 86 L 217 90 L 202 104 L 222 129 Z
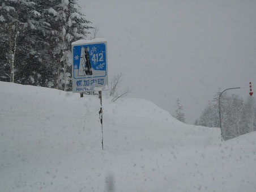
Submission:
M 51 5 L 52 1 L 47 1 Z M 89 21 L 82 14 L 75 0 L 53 1 L 43 10 L 44 18 L 50 24 L 46 31 L 49 54 L 53 63 L 53 87 L 67 90 L 71 80 L 71 42 L 86 39 Z M 44 4 L 45 2 L 42 2 Z

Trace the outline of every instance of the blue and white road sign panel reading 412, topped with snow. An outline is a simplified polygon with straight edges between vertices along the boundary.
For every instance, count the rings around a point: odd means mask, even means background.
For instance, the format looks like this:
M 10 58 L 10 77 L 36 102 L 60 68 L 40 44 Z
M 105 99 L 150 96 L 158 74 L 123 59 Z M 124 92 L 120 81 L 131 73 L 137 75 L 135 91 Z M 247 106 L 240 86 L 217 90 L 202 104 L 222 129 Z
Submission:
M 105 39 L 72 42 L 72 91 L 108 90 Z

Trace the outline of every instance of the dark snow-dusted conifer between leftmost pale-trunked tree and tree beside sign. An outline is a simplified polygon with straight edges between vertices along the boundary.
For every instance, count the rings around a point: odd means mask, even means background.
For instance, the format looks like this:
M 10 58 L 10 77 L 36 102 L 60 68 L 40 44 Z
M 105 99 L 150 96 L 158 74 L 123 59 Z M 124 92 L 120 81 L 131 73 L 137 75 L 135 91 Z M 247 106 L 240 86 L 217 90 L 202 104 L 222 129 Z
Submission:
M 20 33 L 18 41 L 18 62 L 16 72 L 16 82 L 21 84 L 31 84 L 34 86 L 46 86 L 49 67 L 44 63 L 48 61 L 46 55 L 46 42 L 44 36 L 44 23 L 40 14 L 40 5 L 33 1 L 34 10 L 27 17 L 29 27 Z

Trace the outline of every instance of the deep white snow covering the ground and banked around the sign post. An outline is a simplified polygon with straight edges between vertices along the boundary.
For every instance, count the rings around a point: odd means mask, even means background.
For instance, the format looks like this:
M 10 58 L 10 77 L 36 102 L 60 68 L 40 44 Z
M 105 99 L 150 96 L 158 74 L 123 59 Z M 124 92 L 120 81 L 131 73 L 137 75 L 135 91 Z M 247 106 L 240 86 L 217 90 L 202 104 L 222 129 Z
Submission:
M 256 133 L 220 142 L 147 100 L 0 82 L 0 191 L 256 191 Z

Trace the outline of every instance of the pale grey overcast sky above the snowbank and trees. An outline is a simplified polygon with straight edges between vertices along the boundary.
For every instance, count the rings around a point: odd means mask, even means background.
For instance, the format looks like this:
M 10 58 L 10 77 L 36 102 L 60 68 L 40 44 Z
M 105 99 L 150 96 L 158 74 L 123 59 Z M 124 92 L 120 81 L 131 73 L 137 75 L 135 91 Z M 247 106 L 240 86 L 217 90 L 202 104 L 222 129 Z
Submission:
M 131 96 L 170 113 L 179 98 L 187 122 L 194 123 L 219 88 L 253 82 L 256 92 L 255 0 L 80 4 L 108 41 L 109 77 L 123 72 Z M 229 93 L 246 97 L 249 88 Z

